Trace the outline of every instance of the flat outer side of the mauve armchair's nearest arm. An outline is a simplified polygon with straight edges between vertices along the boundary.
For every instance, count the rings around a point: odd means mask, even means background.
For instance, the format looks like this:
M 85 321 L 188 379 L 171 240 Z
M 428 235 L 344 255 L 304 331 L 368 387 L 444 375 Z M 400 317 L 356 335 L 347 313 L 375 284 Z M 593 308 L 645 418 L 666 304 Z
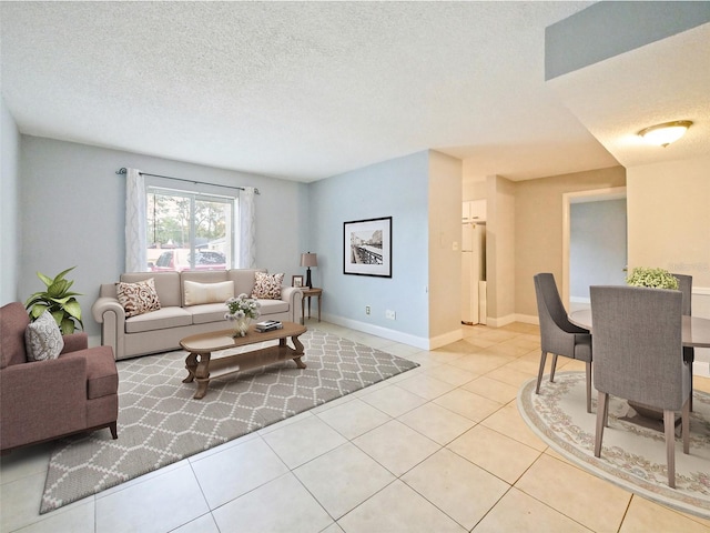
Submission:
M 87 421 L 87 361 L 60 355 L 0 371 L 1 447 L 78 431 Z

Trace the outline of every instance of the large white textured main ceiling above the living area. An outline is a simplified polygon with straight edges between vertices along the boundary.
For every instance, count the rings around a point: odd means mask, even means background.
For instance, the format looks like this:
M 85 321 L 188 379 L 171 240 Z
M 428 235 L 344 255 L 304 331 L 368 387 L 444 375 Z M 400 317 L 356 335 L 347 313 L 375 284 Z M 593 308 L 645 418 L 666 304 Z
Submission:
M 545 28 L 590 3 L 0 2 L 1 90 L 22 133 L 212 167 L 435 149 L 532 179 L 618 164 L 544 80 Z

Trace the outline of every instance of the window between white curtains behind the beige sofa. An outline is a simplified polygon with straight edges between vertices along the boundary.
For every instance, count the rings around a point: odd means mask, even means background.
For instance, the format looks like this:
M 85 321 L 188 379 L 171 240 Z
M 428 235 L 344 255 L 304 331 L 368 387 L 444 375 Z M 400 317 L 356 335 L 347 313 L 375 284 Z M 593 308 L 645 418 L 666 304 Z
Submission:
M 232 268 L 236 205 L 234 197 L 146 187 L 149 270 Z

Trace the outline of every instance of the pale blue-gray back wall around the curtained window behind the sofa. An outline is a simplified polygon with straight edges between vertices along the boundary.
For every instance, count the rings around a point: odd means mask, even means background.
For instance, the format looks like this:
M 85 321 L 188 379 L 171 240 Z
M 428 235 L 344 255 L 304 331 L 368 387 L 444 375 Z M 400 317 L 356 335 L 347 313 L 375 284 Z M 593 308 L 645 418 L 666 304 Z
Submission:
M 285 279 L 301 272 L 305 248 L 307 185 L 149 155 L 51 139 L 21 137 L 18 217 L 22 228 L 19 273 L 21 299 L 43 285 L 36 272 L 69 275 L 79 298 L 85 331 L 100 334 L 91 318 L 101 283 L 118 281 L 124 270 L 125 177 L 121 167 L 226 185 L 256 187 L 256 263 Z M 3 231 L 4 234 L 4 231 Z M 4 257 L 4 254 L 3 254 Z M 4 281 L 3 281 L 4 286 Z

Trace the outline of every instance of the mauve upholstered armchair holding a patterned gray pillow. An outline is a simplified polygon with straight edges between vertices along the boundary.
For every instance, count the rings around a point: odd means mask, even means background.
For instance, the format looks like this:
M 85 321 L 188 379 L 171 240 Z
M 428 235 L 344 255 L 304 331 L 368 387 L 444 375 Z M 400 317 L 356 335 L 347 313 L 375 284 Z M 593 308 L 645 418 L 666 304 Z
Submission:
M 119 375 L 110 346 L 64 335 L 58 359 L 27 359 L 30 318 L 19 302 L 0 308 L 0 451 L 109 428 L 118 438 Z

